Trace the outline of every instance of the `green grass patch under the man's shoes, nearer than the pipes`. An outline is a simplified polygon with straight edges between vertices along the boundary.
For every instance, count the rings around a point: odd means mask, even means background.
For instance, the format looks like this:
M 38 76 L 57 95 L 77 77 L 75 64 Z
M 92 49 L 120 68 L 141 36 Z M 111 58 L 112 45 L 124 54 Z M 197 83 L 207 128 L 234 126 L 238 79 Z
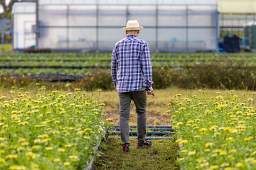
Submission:
M 107 148 L 95 162 L 96 170 L 105 169 L 179 169 L 176 164 L 178 145 L 173 140 L 152 140 L 149 149 L 137 149 L 137 140 L 130 140 L 130 153 L 123 154 L 121 141 L 110 139 Z

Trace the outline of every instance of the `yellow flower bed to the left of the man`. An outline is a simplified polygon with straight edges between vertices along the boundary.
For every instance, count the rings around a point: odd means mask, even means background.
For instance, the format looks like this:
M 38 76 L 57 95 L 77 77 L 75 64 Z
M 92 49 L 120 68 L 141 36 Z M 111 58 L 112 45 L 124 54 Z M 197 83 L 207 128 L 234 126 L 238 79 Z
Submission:
M 95 156 L 104 104 L 80 89 L 30 95 L 12 87 L 1 96 L 0 169 L 82 169 Z

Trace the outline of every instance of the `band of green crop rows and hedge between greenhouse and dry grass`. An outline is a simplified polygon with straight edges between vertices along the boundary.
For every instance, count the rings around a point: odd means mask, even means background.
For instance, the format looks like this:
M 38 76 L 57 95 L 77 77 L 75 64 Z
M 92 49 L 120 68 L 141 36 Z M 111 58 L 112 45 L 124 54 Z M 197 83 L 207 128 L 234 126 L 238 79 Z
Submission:
M 154 88 L 255 90 L 253 53 L 152 54 Z M 28 86 L 35 81 L 73 81 L 78 88 L 112 89 L 111 53 L 2 55 L 0 85 Z M 46 84 L 47 86 L 47 84 Z

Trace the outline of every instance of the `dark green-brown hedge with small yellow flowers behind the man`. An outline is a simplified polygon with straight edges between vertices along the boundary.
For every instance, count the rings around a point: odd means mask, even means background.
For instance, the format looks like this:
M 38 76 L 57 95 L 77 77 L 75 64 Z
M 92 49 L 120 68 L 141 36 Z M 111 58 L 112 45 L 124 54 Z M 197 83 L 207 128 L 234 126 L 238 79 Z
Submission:
M 182 89 L 248 89 L 255 90 L 256 67 L 248 65 L 222 66 L 221 62 L 213 64 L 198 64 L 195 67 L 154 67 L 153 87 L 165 89 L 178 87 Z M 35 81 L 44 86 L 51 84 L 52 79 L 34 79 L 31 76 L 0 77 L 0 86 L 29 86 Z M 58 82 L 61 84 L 62 82 Z M 63 83 L 64 84 L 64 83 Z M 73 85 L 85 90 L 113 89 L 110 69 L 90 69 L 80 79 L 73 81 Z M 50 85 L 49 85 L 50 86 Z

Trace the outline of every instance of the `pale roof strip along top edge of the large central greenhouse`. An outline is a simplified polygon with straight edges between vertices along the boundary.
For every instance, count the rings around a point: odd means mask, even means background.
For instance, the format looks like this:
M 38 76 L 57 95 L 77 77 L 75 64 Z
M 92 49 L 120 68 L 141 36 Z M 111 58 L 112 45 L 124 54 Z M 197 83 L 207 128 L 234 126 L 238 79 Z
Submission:
M 39 0 L 40 5 L 218 5 L 218 0 Z

